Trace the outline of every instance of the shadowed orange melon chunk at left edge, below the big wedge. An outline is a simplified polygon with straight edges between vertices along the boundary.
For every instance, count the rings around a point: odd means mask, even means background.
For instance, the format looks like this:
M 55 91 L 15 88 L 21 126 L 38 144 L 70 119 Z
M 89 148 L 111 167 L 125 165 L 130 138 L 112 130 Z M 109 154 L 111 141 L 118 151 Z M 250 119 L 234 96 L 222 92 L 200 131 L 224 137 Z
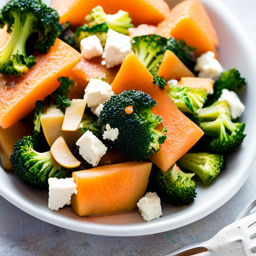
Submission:
M 6 129 L 0 127 L 0 158 L 4 169 L 12 169 L 9 158 L 17 140 L 31 134 L 31 128 L 22 121 L 15 122 Z

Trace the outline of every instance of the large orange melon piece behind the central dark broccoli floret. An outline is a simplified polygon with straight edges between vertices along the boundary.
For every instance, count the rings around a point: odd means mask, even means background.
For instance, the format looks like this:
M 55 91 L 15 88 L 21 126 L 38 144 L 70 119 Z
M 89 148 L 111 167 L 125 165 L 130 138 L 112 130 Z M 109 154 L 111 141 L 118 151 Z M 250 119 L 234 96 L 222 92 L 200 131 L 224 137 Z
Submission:
M 124 59 L 112 82 L 112 90 L 119 94 L 123 90 L 142 90 L 157 101 L 151 111 L 162 117 L 167 137 L 158 152 L 150 159 L 162 171 L 166 171 L 203 135 L 203 131 L 187 118 L 171 101 L 169 95 L 153 84 L 153 75 L 138 60 L 134 53 Z

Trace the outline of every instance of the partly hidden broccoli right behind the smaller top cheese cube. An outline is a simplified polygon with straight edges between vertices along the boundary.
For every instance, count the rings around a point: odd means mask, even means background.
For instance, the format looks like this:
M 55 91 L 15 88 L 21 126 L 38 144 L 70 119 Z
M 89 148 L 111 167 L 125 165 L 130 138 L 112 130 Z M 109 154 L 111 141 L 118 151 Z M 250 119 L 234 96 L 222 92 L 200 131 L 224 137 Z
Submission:
M 94 34 L 98 37 L 102 46 L 105 46 L 107 31 L 108 31 L 108 26 L 106 25 L 106 23 L 100 23 L 92 27 L 88 27 L 88 24 L 84 24 L 82 26 L 77 27 L 74 33 L 76 48 L 79 49 L 81 39 Z

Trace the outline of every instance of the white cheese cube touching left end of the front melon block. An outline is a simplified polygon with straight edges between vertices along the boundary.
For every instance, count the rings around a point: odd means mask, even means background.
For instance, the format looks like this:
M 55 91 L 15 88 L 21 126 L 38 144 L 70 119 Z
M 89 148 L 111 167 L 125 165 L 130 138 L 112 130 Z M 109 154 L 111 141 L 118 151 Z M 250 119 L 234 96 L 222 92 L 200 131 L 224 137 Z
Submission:
M 48 183 L 48 207 L 51 210 L 58 210 L 65 204 L 69 205 L 71 195 L 77 193 L 74 178 L 48 178 Z

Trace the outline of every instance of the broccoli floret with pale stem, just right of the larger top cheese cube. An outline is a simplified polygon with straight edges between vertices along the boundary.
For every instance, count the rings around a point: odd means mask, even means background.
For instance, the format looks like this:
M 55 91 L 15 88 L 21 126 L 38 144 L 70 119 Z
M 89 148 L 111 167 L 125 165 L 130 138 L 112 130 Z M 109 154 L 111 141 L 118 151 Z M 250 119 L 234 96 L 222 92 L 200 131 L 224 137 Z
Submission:
M 132 49 L 138 59 L 153 74 L 156 75 L 162 62 L 167 39 L 157 34 L 141 35 L 132 38 Z

